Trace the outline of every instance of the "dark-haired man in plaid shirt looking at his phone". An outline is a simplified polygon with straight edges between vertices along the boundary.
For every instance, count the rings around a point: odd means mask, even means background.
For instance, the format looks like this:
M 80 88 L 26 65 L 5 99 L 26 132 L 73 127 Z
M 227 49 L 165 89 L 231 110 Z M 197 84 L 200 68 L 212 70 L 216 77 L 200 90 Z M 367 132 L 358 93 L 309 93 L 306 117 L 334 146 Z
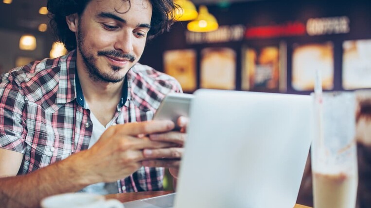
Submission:
M 162 189 L 177 177 L 187 119 L 151 121 L 181 92 L 138 63 L 146 39 L 172 24 L 172 0 L 49 0 L 70 53 L 11 70 L 0 82 L 0 205 L 37 207 L 63 192 Z

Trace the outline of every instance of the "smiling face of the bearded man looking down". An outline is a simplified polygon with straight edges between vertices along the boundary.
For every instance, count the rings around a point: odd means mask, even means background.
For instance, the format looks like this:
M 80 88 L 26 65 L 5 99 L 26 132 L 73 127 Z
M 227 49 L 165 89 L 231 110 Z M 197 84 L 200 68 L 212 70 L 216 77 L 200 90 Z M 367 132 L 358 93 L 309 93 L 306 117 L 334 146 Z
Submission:
M 123 80 L 143 53 L 151 16 L 149 0 L 91 0 L 77 26 L 77 61 L 89 77 Z

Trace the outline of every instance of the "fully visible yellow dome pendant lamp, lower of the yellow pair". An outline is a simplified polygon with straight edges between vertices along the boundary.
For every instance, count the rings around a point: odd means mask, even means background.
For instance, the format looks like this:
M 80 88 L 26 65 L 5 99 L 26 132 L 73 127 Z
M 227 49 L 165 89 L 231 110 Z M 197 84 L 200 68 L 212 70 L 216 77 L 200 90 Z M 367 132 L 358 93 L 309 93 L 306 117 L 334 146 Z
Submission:
M 218 27 L 216 18 L 209 13 L 208 8 L 204 5 L 200 5 L 197 18 L 187 24 L 187 29 L 192 32 L 212 32 Z

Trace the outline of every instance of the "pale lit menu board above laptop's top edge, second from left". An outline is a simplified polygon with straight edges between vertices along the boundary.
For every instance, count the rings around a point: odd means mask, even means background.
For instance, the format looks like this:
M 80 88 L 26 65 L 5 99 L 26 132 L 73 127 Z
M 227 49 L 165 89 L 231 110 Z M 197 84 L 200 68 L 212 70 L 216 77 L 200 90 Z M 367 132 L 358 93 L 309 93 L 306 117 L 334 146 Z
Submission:
M 231 48 L 201 50 L 201 88 L 234 90 L 236 52 Z

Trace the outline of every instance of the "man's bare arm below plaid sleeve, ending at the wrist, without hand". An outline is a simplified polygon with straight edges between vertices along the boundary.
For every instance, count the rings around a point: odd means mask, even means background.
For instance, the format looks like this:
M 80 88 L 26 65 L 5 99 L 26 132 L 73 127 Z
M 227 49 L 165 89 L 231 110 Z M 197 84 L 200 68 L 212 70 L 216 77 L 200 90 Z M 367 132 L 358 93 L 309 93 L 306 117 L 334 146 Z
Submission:
M 23 176 L 16 176 L 23 154 L 0 149 L 0 158 L 0 204 L 3 208 L 36 208 L 46 196 L 78 191 L 89 185 L 89 181 L 78 174 L 78 166 L 71 166 L 72 157 L 71 161 L 66 159 Z

